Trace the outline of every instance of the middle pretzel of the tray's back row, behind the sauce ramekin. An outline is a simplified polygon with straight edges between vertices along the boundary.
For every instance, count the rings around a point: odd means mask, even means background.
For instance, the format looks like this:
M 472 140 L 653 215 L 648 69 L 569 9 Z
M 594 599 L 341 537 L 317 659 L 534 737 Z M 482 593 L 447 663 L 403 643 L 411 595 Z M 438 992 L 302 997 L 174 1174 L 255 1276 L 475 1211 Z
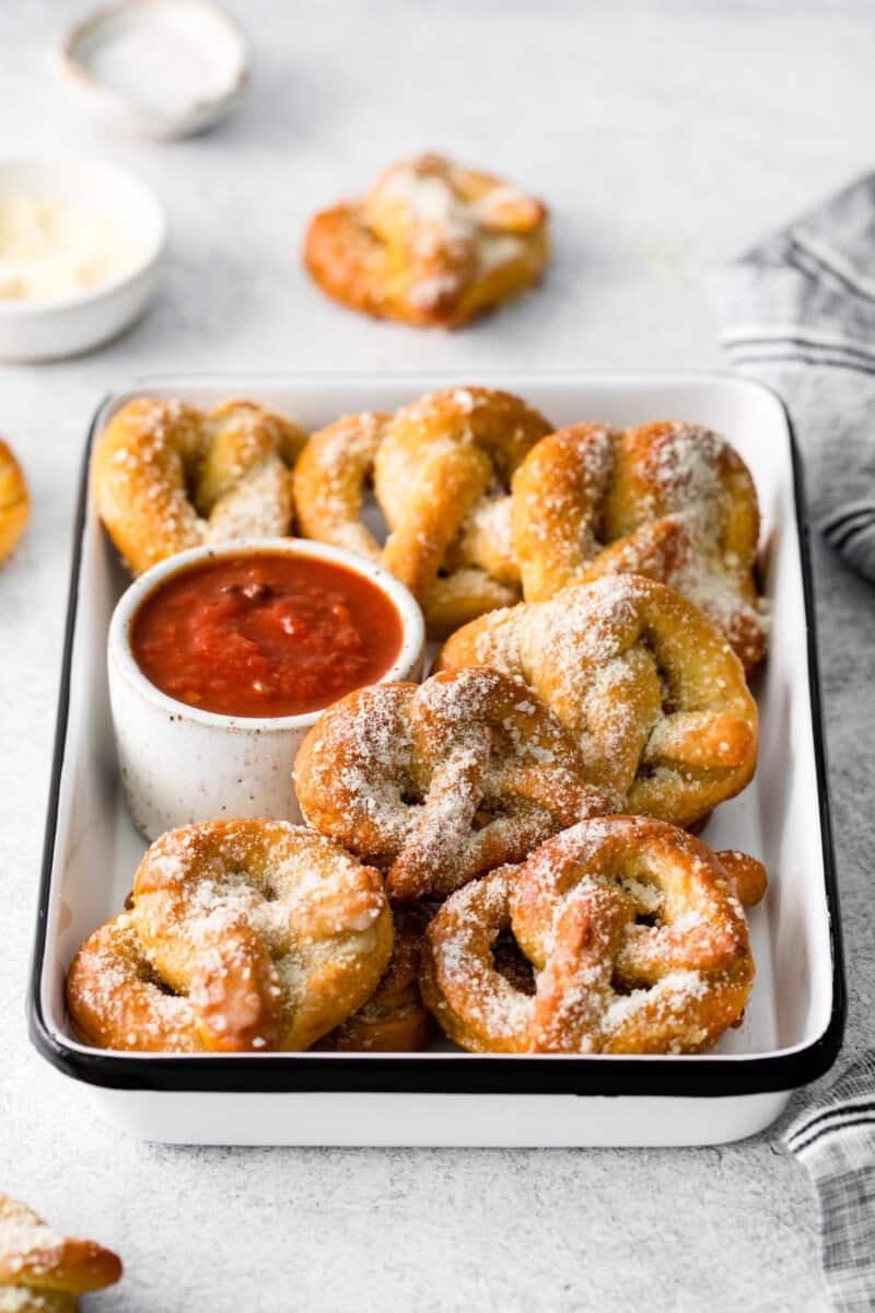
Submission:
M 411 590 L 432 634 L 519 597 L 510 478 L 550 424 L 488 387 L 422 397 L 394 416 L 345 416 L 314 433 L 294 475 L 311 538 L 380 561 Z M 362 524 L 373 479 L 386 546 Z

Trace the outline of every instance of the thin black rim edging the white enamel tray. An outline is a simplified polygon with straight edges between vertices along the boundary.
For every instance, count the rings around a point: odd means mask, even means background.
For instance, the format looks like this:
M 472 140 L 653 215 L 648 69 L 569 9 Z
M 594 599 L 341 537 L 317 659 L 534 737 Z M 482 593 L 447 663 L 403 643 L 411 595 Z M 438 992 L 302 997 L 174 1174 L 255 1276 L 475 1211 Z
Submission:
M 492 373 L 492 372 L 491 372 Z M 294 376 L 283 376 L 294 377 Z M 314 373 L 310 378 L 317 378 Z M 329 376 L 323 376 L 329 377 Z M 333 376 L 337 377 L 337 376 Z M 418 376 L 421 377 L 421 376 Z M 540 376 L 544 381 L 550 374 Z M 554 376 L 556 381 L 560 374 Z M 581 376 L 577 376 L 579 378 Z M 657 376 L 648 376 L 656 379 Z M 838 910 L 838 882 L 833 851 L 829 776 L 823 733 L 817 666 L 815 595 L 809 528 L 805 511 L 802 458 L 792 420 L 783 400 L 763 383 L 739 379 L 729 372 L 687 373 L 689 381 L 744 382 L 770 391 L 781 406 L 790 435 L 794 506 L 799 538 L 802 586 L 808 646 L 808 685 L 812 738 L 820 806 L 829 945 L 832 955 L 832 1008 L 829 1023 L 816 1040 L 788 1053 L 715 1058 L 707 1056 L 641 1057 L 619 1054 L 535 1057 L 530 1054 L 321 1054 L 270 1053 L 234 1056 L 163 1056 L 105 1053 L 64 1043 L 49 1025 L 42 1008 L 42 973 L 46 955 L 49 897 L 58 829 L 58 806 L 67 741 L 73 634 L 79 605 L 79 576 L 88 507 L 88 469 L 98 418 L 115 395 L 97 407 L 88 433 L 73 525 L 70 596 L 58 697 L 49 809 L 42 853 L 35 943 L 28 997 L 30 1039 L 38 1052 L 64 1075 L 115 1090 L 192 1090 L 248 1094 L 279 1092 L 391 1092 L 391 1094 L 575 1094 L 611 1096 L 727 1098 L 794 1090 L 823 1075 L 836 1061 L 845 1029 L 845 969 Z M 278 381 L 278 376 L 266 382 Z M 669 381 L 669 376 L 665 376 Z M 140 381 L 148 386 L 147 379 Z M 157 379 L 156 379 L 157 382 Z M 161 379 L 167 386 L 167 379 Z M 189 379 L 192 382 L 192 379 Z M 205 379 L 213 382 L 213 379 Z M 630 379 L 631 382 L 631 379 Z

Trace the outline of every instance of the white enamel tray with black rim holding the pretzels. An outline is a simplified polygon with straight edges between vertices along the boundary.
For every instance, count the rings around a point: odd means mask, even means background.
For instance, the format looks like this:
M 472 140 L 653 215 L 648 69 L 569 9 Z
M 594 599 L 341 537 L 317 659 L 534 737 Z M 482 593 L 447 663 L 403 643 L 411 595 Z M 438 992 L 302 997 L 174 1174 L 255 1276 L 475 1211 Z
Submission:
M 67 1078 L 132 1134 L 195 1144 L 693 1145 L 749 1136 L 790 1091 L 834 1061 L 844 1024 L 838 906 L 815 668 L 813 605 L 799 469 L 781 402 L 719 374 L 487 374 L 159 378 L 114 394 L 92 436 L 131 395 L 202 404 L 252 397 L 317 428 L 356 410 L 394 410 L 434 387 L 492 383 L 556 427 L 678 418 L 724 433 L 762 508 L 762 582 L 771 650 L 756 678 L 760 768 L 704 839 L 761 857 L 765 902 L 750 913 L 757 979 L 744 1024 L 707 1054 L 475 1056 L 113 1053 L 77 1043 L 64 972 L 83 939 L 122 907 L 144 842 L 122 800 L 106 692 L 106 629 L 127 583 L 83 482 L 73 548 L 30 1028 Z

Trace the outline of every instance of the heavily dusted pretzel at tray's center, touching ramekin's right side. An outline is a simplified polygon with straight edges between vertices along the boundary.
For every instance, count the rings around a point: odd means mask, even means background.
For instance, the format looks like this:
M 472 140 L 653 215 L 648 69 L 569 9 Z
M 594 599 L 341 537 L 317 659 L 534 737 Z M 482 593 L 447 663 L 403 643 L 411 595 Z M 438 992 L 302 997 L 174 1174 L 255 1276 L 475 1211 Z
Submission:
M 491 670 L 348 695 L 304 739 L 295 785 L 307 821 L 387 867 L 399 901 L 518 861 L 611 801 L 559 720 Z

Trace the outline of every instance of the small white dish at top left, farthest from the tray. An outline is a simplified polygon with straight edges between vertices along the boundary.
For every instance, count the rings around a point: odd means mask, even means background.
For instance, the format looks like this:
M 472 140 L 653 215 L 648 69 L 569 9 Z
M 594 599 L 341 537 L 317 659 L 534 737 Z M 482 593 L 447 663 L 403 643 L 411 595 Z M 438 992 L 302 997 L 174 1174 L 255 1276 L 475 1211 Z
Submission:
M 235 108 L 248 50 L 237 24 L 207 0 L 122 0 L 70 32 L 66 79 L 105 123 L 167 140 L 201 133 Z

